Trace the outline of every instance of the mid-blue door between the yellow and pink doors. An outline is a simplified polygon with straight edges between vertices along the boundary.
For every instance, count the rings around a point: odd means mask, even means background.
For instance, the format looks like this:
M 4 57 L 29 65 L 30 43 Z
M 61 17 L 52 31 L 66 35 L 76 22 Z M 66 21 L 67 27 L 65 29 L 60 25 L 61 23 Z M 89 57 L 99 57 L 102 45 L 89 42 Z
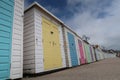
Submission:
M 75 39 L 74 39 L 74 36 L 69 32 L 68 32 L 68 42 L 69 42 L 69 49 L 70 49 L 70 57 L 71 57 L 72 66 L 77 66 L 78 65 L 78 58 L 77 58 Z

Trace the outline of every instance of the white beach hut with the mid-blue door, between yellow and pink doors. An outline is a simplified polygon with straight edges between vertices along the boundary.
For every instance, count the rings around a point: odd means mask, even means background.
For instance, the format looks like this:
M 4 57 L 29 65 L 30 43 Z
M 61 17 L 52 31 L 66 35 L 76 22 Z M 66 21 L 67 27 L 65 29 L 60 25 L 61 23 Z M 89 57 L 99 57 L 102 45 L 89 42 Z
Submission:
M 64 33 L 64 46 L 65 46 L 65 53 L 66 53 L 66 65 L 67 67 L 74 67 L 80 65 L 78 49 L 77 49 L 77 42 L 76 42 L 76 35 L 72 29 L 64 26 L 63 28 Z

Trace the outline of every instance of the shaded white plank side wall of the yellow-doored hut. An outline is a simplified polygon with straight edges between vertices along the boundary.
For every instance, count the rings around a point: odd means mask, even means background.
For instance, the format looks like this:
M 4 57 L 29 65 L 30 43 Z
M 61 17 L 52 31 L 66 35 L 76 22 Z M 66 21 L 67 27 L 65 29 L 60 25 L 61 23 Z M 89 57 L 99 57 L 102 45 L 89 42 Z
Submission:
M 23 72 L 35 73 L 35 18 L 34 9 L 24 13 L 24 54 L 23 54 Z M 40 21 L 39 21 L 40 22 Z M 39 32 L 41 32 L 39 30 Z M 40 49 L 39 53 L 42 49 Z M 42 58 L 43 59 L 43 58 Z M 40 60 L 39 60 L 40 61 Z M 43 61 L 43 60 L 42 60 Z M 42 63 L 41 61 L 41 63 Z

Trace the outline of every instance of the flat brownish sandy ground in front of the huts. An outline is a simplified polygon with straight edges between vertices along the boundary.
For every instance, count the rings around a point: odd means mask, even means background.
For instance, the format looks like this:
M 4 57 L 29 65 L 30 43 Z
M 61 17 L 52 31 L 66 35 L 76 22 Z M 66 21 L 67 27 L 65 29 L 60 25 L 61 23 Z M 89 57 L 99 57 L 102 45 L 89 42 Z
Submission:
M 120 58 L 105 59 L 92 64 L 22 80 L 120 80 Z

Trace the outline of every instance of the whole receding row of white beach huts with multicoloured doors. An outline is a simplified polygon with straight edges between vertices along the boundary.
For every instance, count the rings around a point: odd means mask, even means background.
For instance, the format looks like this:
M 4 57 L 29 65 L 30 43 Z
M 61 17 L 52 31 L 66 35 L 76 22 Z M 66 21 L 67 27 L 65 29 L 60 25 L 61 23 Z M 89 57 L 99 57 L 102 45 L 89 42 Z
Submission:
M 114 55 L 111 55 L 115 57 Z M 37 2 L 0 0 L 0 80 L 109 58 Z

